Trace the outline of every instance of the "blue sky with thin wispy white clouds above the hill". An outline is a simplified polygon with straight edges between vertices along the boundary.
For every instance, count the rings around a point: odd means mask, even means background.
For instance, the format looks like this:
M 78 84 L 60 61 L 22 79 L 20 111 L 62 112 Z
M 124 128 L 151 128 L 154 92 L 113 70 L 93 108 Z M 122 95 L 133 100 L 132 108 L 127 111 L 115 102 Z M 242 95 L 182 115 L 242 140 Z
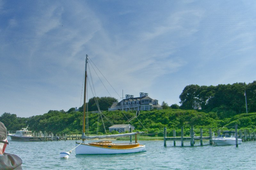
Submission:
M 96 95 L 118 101 L 144 92 L 180 105 L 187 85 L 252 83 L 255 10 L 254 0 L 0 0 L 0 115 L 80 107 L 86 55 L 118 93 L 93 79 Z

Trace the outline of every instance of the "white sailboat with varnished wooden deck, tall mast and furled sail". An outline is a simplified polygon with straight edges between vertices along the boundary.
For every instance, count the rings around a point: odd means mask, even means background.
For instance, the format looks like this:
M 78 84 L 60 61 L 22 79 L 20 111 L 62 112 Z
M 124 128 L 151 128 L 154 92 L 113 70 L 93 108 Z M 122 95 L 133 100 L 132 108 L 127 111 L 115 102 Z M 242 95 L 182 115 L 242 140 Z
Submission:
M 86 55 L 85 62 L 85 76 L 84 76 L 84 110 L 83 110 L 83 133 L 82 142 L 76 142 L 76 154 L 118 154 L 118 153 L 135 153 L 146 151 L 146 146 L 141 145 L 137 142 L 137 134 L 141 132 L 131 132 L 125 134 L 114 134 L 114 135 L 100 135 L 100 136 L 85 136 L 85 113 L 86 113 L 86 79 L 87 79 L 87 60 L 88 55 Z M 135 143 L 112 143 L 111 141 L 100 141 L 85 143 L 86 139 L 106 139 L 106 138 L 116 138 L 135 135 Z

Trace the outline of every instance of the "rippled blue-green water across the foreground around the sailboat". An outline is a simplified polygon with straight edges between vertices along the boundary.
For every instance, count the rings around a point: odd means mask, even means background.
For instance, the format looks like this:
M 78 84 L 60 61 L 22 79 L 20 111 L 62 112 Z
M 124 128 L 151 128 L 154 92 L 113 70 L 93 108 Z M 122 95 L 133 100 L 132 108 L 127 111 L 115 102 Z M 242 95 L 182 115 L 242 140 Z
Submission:
M 73 150 L 69 159 L 60 159 L 60 152 L 73 149 L 72 140 L 9 142 L 5 152 L 18 155 L 23 169 L 256 169 L 256 141 L 244 142 L 238 148 L 234 145 L 190 147 L 189 142 L 180 147 L 177 141 L 176 147 L 172 141 L 167 141 L 164 147 L 163 141 L 140 141 L 146 145 L 147 152 L 76 155 Z M 195 145 L 199 143 L 196 141 Z

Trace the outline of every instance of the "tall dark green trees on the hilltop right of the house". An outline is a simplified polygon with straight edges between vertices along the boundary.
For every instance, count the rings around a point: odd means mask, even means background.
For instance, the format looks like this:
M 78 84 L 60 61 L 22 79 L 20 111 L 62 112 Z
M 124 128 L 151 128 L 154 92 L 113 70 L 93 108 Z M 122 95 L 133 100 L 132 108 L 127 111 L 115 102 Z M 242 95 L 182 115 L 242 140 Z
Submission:
M 246 99 L 245 99 L 246 97 Z M 232 85 L 187 85 L 180 94 L 180 108 L 201 107 L 204 112 L 216 112 L 220 118 L 240 113 L 256 112 L 256 81 Z

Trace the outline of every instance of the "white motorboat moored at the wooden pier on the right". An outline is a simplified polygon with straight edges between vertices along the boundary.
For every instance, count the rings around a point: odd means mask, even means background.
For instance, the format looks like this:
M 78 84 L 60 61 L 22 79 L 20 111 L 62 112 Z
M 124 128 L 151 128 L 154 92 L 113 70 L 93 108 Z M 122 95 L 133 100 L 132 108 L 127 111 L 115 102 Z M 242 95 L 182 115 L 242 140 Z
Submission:
M 225 146 L 225 145 L 235 145 L 236 144 L 236 137 L 232 134 L 235 134 L 235 132 L 224 132 L 222 135 L 215 137 L 212 139 L 212 141 L 219 146 Z M 242 139 L 237 139 L 237 144 L 242 144 Z

